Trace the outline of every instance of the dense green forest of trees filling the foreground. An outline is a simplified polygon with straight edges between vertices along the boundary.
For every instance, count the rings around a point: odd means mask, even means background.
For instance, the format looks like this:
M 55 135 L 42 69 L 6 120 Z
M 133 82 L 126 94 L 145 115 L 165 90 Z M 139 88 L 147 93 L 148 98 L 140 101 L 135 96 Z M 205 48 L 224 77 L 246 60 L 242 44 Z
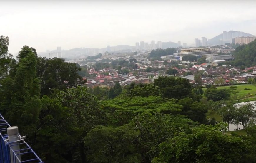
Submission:
M 91 89 L 76 64 L 38 57 L 29 46 L 15 60 L 8 44 L 0 36 L 0 112 L 46 163 L 256 162 L 252 105 L 236 110 L 229 90 L 204 93 L 179 77 Z M 246 136 L 224 133 L 233 119 Z

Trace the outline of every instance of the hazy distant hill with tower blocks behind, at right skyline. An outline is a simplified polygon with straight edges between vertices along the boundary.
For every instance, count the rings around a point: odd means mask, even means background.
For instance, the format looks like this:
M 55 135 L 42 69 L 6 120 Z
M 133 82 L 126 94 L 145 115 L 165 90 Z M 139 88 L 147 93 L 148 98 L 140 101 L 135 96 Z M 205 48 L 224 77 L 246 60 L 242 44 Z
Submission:
M 223 31 L 223 33 L 215 36 L 207 41 L 207 44 L 220 45 L 225 43 L 230 43 L 232 38 L 243 37 L 243 36 L 253 36 L 250 33 L 240 32 L 240 31 Z

